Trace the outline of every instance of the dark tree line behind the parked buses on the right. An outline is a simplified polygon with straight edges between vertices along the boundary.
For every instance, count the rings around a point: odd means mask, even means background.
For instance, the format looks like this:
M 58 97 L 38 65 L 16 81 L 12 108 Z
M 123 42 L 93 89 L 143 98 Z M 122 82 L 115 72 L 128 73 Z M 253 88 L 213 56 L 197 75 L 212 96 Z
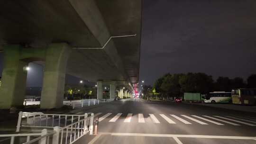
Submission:
M 212 76 L 201 72 L 167 73 L 157 79 L 154 84 L 154 89 L 160 93 L 161 97 L 179 97 L 184 92 L 204 94 L 212 91 L 231 91 L 236 88 L 256 88 L 256 74 L 249 76 L 246 83 L 240 77 L 234 79 L 219 77 L 213 81 Z

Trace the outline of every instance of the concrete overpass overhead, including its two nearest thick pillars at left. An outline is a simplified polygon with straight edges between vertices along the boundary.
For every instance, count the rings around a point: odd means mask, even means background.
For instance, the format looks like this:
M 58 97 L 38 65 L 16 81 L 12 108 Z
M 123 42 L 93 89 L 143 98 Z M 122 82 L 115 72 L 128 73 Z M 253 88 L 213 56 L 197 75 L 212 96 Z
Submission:
M 21 79 L 17 67 L 38 60 L 46 65 L 42 96 L 61 99 L 65 73 L 89 81 L 114 81 L 132 91 L 139 75 L 141 7 L 142 0 L 2 0 L 0 49 L 5 65 L 0 107 L 20 104 L 14 102 L 15 92 L 7 94 L 23 89 L 17 86 L 24 82 L 16 79 Z M 3 97 L 6 94 L 9 98 Z M 9 103 L 2 106 L 6 99 Z M 50 107 L 61 105 L 57 103 Z

